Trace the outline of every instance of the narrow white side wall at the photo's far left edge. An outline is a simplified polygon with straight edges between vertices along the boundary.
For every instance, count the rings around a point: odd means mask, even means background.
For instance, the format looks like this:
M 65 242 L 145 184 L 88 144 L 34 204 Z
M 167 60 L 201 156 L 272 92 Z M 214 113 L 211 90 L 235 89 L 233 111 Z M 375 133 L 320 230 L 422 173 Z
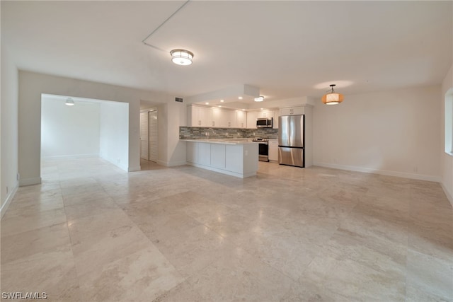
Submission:
M 18 70 L 4 43 L 1 43 L 0 119 L 0 201 L 3 216 L 18 187 Z

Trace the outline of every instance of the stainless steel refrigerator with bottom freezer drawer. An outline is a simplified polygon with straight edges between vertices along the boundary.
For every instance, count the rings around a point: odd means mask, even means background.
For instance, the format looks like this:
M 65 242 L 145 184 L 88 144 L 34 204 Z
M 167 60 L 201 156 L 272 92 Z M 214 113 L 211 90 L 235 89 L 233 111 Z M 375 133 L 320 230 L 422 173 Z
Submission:
M 304 115 L 278 117 L 278 163 L 304 168 Z

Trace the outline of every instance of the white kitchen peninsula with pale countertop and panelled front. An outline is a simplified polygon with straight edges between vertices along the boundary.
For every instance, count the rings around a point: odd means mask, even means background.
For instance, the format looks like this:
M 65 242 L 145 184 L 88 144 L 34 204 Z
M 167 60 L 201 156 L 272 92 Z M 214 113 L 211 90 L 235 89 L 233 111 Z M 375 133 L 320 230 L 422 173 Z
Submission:
M 251 139 L 180 139 L 186 160 L 198 168 L 248 178 L 258 170 L 258 144 Z

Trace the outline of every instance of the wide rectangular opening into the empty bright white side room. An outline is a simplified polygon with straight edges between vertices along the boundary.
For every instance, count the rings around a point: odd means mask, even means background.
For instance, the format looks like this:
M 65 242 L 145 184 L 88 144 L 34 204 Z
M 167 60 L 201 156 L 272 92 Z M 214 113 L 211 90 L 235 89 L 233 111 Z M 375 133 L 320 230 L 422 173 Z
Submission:
M 129 170 L 129 104 L 41 95 L 41 161 L 103 158 Z

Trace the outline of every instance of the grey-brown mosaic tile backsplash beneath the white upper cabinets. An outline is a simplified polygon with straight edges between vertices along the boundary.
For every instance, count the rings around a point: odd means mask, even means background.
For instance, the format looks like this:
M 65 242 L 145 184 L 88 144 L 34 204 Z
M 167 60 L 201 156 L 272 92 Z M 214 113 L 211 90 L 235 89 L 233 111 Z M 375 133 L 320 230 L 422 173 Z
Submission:
M 278 129 L 243 129 L 243 128 L 204 128 L 204 127 L 179 127 L 179 139 L 204 139 L 206 132 L 210 138 L 215 139 L 242 139 L 242 138 L 267 138 L 277 139 Z M 213 133 L 214 132 L 214 133 Z

